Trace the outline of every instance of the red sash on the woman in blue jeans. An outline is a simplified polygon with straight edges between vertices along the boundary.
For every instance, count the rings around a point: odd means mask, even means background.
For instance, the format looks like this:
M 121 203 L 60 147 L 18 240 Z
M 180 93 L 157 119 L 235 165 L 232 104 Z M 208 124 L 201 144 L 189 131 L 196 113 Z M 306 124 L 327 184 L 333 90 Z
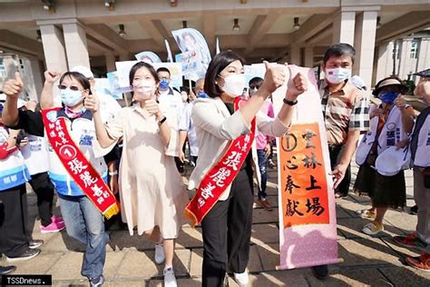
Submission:
M 65 124 L 64 117 L 57 117 L 60 108 L 42 111 L 44 128 L 54 152 L 58 155 L 64 169 L 83 193 L 94 203 L 106 218 L 119 213 L 115 196 L 104 183 L 103 178 L 86 159 L 80 148 L 73 142 Z

